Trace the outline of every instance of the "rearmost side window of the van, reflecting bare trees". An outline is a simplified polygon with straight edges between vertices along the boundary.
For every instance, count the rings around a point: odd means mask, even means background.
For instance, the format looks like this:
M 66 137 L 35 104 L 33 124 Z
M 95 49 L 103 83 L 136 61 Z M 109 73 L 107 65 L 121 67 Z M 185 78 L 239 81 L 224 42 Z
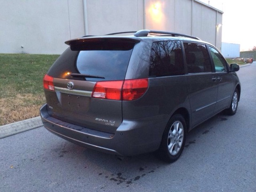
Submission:
M 154 42 L 150 54 L 149 76 L 184 74 L 180 41 Z

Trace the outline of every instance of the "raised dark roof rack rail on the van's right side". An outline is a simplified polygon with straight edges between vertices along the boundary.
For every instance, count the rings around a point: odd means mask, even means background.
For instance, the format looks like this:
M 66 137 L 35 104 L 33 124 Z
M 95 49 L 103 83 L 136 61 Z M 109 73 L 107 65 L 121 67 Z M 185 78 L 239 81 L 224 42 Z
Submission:
M 154 31 L 154 30 L 139 30 L 136 33 L 134 33 L 134 36 L 136 36 L 136 37 L 146 37 L 150 33 L 159 34 L 159 36 L 163 36 L 162 34 L 164 34 L 164 35 L 168 35 L 168 36 L 170 35 L 170 36 L 173 36 L 173 37 L 182 36 L 182 37 L 189 37 L 189 38 L 201 40 L 200 38 L 195 37 L 195 36 L 190 36 L 190 35 L 185 35 L 185 34 L 180 34 L 180 33 L 173 33 L 173 32 L 166 32 L 166 31 Z

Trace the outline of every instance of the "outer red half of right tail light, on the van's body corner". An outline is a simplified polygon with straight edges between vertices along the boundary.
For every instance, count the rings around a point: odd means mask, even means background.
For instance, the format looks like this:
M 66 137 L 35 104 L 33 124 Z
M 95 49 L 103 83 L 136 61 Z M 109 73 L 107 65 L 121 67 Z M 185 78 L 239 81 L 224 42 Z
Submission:
M 124 101 L 140 98 L 148 89 L 148 79 L 125 80 L 122 90 Z

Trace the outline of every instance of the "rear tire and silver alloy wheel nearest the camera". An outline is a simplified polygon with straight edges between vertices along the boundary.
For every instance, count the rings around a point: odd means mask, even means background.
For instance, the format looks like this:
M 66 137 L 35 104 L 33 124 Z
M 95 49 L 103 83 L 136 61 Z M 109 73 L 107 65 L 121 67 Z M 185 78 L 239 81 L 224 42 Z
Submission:
M 172 116 L 162 136 L 158 149 L 159 157 L 169 163 L 176 161 L 184 149 L 186 133 L 187 127 L 184 117 L 180 114 Z

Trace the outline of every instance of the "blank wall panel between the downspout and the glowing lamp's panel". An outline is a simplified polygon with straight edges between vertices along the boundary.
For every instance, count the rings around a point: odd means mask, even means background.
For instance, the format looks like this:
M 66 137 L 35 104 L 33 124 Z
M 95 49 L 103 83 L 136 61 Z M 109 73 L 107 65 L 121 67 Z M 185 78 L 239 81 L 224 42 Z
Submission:
M 86 35 L 143 29 L 143 0 L 84 0 L 84 5 Z

